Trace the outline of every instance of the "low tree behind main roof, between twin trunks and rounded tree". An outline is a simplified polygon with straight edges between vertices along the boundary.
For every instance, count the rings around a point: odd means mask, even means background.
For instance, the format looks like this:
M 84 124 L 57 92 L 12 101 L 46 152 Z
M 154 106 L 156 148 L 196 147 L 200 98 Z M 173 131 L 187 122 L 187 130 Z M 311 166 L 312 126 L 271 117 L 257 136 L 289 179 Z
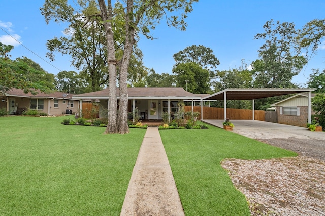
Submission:
M 175 75 L 169 73 L 156 73 L 153 69 L 145 77 L 148 87 L 173 87 L 176 86 Z

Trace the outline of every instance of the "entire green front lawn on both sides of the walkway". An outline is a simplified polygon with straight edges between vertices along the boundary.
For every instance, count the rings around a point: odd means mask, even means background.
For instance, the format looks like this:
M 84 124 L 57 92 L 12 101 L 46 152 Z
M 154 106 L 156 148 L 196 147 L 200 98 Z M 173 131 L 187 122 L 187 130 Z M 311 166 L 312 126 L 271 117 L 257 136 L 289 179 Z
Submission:
M 0 215 L 120 214 L 146 130 L 103 135 L 63 118 L 0 118 Z M 212 126 L 160 134 L 187 216 L 249 215 L 222 159 L 296 156 Z

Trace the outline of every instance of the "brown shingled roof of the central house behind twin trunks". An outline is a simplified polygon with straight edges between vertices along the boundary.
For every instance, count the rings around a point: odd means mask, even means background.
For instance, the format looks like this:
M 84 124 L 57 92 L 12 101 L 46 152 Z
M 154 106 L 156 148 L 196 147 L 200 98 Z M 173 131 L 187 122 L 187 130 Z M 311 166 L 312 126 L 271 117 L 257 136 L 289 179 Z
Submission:
M 201 96 L 185 91 L 179 87 L 135 87 L 127 88 L 128 99 L 190 99 L 200 100 Z M 116 88 L 116 95 L 119 98 L 119 88 Z M 74 99 L 108 99 L 109 88 L 74 95 Z

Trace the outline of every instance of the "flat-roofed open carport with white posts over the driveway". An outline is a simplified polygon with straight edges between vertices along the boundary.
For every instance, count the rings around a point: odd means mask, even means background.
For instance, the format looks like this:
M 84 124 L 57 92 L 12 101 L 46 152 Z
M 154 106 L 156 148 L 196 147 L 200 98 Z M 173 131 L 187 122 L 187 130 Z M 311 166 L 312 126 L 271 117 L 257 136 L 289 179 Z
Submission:
M 315 91 L 315 89 L 225 89 L 202 98 L 202 101 L 224 100 L 224 120 L 225 120 L 227 118 L 227 100 L 252 100 L 253 120 L 254 120 L 255 99 L 306 92 L 308 93 L 308 123 L 311 123 L 311 92 L 313 91 Z M 202 105 L 201 105 L 201 113 L 203 113 Z M 203 120 L 203 115 L 201 115 L 201 120 Z

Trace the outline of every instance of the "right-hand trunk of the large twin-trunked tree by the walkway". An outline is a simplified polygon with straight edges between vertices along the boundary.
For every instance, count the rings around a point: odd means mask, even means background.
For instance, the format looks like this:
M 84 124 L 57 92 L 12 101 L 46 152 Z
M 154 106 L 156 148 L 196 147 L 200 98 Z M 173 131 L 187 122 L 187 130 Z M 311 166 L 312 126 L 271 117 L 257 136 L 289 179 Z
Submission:
M 117 127 L 116 133 L 124 134 L 128 133 L 128 125 L 127 125 L 127 102 L 128 102 L 128 94 L 127 94 L 127 69 L 130 62 L 132 48 L 134 44 L 134 27 L 130 25 L 132 23 L 131 15 L 133 13 L 133 0 L 127 1 L 126 8 L 126 37 L 125 37 L 125 46 L 124 52 L 121 62 L 120 68 L 120 102 L 119 102 L 119 111 L 117 116 Z

